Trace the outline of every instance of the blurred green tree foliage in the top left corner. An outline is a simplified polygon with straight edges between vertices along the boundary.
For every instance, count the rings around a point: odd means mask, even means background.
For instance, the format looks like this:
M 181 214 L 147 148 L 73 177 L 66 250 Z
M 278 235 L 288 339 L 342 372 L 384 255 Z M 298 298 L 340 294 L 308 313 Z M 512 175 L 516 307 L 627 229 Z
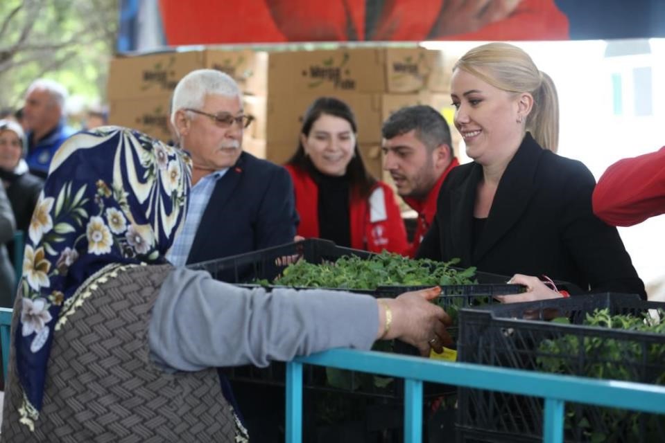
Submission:
M 103 100 L 118 20 L 119 0 L 0 1 L 0 107 L 20 106 L 40 77 Z

